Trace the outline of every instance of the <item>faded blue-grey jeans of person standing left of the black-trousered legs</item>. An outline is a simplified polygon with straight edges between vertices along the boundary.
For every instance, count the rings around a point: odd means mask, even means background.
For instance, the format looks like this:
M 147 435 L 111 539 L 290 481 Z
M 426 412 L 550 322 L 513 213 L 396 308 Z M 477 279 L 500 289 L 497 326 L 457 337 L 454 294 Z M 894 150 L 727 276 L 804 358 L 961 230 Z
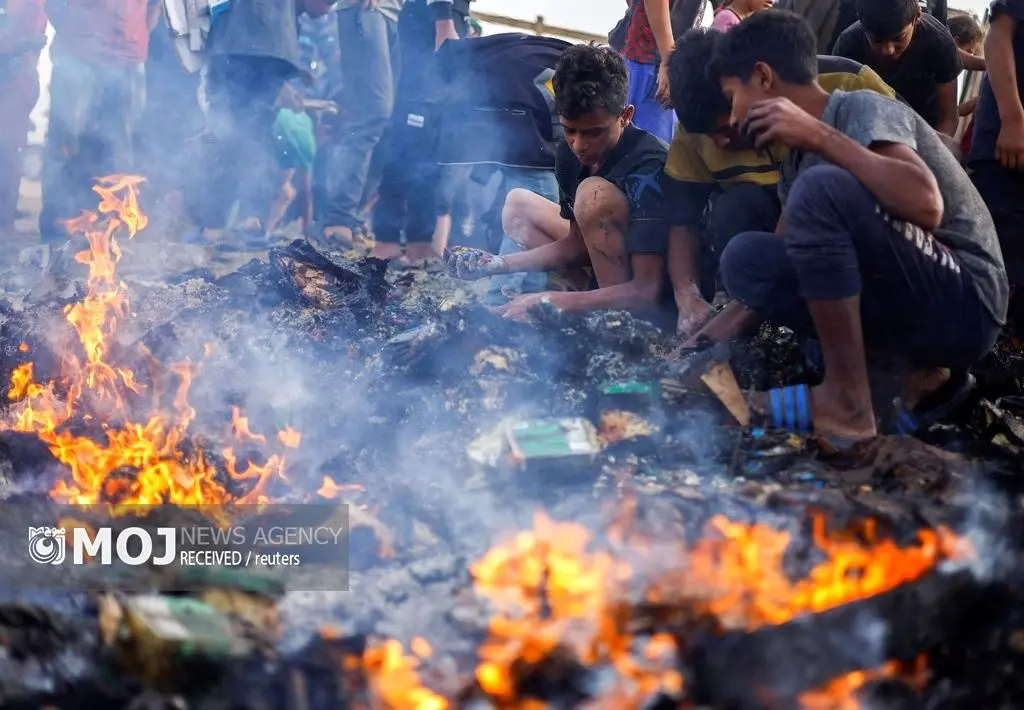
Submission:
M 398 24 L 378 10 L 338 11 L 342 47 L 343 116 L 338 136 L 327 149 L 327 226 L 354 227 L 370 160 L 394 109 L 398 73 Z

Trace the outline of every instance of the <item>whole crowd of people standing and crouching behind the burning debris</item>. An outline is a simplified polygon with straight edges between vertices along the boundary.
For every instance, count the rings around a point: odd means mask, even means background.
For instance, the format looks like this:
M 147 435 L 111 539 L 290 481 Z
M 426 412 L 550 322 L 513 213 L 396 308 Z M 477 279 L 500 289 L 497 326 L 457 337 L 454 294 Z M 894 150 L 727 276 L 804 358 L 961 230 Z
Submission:
M 48 20 L 44 242 L 134 171 L 211 248 L 294 217 L 488 278 L 508 318 L 626 309 L 684 349 L 767 321 L 825 376 L 760 408 L 843 441 L 944 416 L 1024 311 L 1024 0 L 987 29 L 944 1 L 628 0 L 606 45 L 480 36 L 470 0 L 227 0 L 202 71 L 171 2 L 0 3 L 0 228 Z M 880 352 L 906 375 L 882 423 Z

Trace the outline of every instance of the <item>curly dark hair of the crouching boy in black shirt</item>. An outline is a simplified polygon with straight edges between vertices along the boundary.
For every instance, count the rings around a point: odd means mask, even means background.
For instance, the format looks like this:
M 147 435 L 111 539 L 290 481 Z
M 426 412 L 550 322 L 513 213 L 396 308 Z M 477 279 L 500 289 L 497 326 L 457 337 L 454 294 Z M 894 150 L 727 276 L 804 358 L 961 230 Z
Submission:
M 555 111 L 569 121 L 599 109 L 621 116 L 629 99 L 626 60 L 604 45 L 577 44 L 566 49 L 558 58 L 552 83 Z

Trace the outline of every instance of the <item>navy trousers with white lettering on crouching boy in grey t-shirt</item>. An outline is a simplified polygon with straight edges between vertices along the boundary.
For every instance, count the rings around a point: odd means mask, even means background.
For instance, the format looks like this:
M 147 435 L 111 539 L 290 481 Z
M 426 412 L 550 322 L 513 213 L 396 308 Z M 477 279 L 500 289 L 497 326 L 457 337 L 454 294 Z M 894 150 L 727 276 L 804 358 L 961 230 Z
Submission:
M 810 335 L 807 301 L 860 296 L 864 344 L 914 367 L 967 368 L 1001 330 L 956 255 L 890 217 L 851 173 L 834 165 L 797 178 L 784 233 L 736 235 L 722 254 L 729 295 L 772 323 Z

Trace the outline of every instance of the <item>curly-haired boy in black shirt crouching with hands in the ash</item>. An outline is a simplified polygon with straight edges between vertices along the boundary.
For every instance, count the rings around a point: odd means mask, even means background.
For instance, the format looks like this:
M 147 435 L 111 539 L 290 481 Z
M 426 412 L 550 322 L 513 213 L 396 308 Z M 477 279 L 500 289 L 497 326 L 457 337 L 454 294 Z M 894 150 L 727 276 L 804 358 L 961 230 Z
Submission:
M 593 270 L 596 289 L 514 296 L 499 307 L 507 318 L 521 319 L 542 301 L 574 311 L 645 311 L 658 302 L 668 236 L 660 187 L 668 145 L 631 123 L 628 82 L 625 61 L 609 47 L 566 49 L 553 79 L 564 135 L 555 167 L 559 204 L 512 191 L 503 221 L 526 251 L 445 253 L 447 273 L 460 279 Z

